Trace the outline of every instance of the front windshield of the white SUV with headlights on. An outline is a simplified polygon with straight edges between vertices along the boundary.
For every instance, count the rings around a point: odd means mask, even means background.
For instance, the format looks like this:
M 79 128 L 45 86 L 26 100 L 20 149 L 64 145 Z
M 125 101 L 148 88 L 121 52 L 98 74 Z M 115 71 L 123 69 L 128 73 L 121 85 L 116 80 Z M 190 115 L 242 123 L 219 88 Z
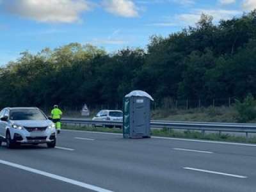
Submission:
M 46 120 L 46 117 L 37 109 L 13 109 L 10 120 Z

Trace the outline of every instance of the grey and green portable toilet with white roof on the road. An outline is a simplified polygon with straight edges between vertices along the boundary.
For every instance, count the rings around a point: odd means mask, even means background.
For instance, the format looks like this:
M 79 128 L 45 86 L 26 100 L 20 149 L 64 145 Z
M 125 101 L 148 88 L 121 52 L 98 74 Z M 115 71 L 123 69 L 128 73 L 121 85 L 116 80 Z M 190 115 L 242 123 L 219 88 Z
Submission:
M 133 91 L 124 98 L 124 138 L 150 138 L 150 101 L 148 93 Z

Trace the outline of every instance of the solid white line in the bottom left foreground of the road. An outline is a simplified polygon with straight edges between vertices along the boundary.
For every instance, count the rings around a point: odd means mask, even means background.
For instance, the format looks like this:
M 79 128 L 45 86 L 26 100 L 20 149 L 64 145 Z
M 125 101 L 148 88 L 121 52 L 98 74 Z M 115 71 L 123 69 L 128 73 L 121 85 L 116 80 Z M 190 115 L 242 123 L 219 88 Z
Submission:
M 103 188 L 99 188 L 97 186 L 93 186 L 93 185 L 90 185 L 90 184 L 86 184 L 84 182 L 79 182 L 77 180 L 73 180 L 73 179 L 68 179 L 66 177 L 61 177 L 59 175 L 54 175 L 52 173 L 47 173 L 47 172 L 43 172 L 43 171 L 40 171 L 40 170 L 36 170 L 36 169 L 33 169 L 33 168 L 29 168 L 28 166 L 22 166 L 20 164 L 15 164 L 15 163 L 11 163 L 11 162 L 8 162 L 8 161 L 3 161 L 0 159 L 0 164 L 5 164 L 5 165 L 8 165 L 8 166 L 12 166 L 14 168 L 18 168 L 20 170 L 25 170 L 27 172 L 31 172 L 31 173 L 36 173 L 38 175 L 43 175 L 45 177 L 50 177 L 51 179 L 56 179 L 56 180 L 61 180 L 63 182 L 67 182 L 69 184 L 73 184 L 75 186 L 79 186 L 81 188 L 86 188 L 86 189 L 90 189 L 90 190 L 93 190 L 93 191 L 99 191 L 99 192 L 113 192 L 113 191 L 109 191 L 108 189 L 103 189 Z

